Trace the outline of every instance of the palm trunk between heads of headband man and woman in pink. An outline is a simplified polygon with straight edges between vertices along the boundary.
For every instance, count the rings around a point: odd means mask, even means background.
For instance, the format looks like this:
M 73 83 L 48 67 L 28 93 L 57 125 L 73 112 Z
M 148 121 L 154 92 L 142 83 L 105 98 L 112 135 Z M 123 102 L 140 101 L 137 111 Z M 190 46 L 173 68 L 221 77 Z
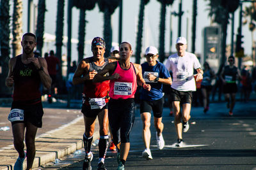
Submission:
M 105 8 L 104 11 L 104 31 L 103 36 L 106 41 L 106 51 L 104 57 L 109 57 L 112 43 L 112 28 L 111 28 L 111 13 L 108 8 Z

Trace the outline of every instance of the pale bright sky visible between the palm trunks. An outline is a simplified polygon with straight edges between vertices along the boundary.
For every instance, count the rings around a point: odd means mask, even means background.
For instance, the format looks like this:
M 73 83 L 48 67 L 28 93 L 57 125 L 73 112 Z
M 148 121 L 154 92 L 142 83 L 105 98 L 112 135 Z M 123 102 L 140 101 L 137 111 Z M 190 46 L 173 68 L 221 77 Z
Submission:
M 57 1 L 58 0 L 46 0 L 47 11 L 45 13 L 45 32 L 49 34 L 55 34 L 56 32 L 56 13 L 57 13 Z M 28 31 L 27 20 L 28 20 L 28 0 L 22 1 L 23 3 L 23 32 Z M 37 4 L 37 0 L 33 3 Z M 175 0 L 172 6 L 166 8 L 166 29 L 165 29 L 165 52 L 170 52 L 170 41 L 175 44 L 178 34 L 178 17 L 172 15 L 172 31 L 173 38 L 170 40 L 170 13 L 173 11 L 179 11 L 180 0 Z M 198 0 L 198 15 L 196 20 L 196 53 L 203 53 L 203 35 L 202 31 L 204 27 L 211 24 L 210 17 L 208 17 L 209 6 L 207 6 L 208 1 Z M 244 6 L 248 6 L 250 3 L 245 3 Z M 122 41 L 127 41 L 131 43 L 132 48 L 136 49 L 136 32 L 138 29 L 138 12 L 140 7 L 140 0 L 123 0 L 123 18 L 122 18 Z M 182 1 L 182 31 L 181 35 L 188 39 L 188 51 L 191 51 L 191 27 L 192 27 L 192 17 L 193 17 L 193 1 L 183 0 Z M 145 17 L 144 17 L 144 28 L 143 28 L 143 39 L 142 39 L 142 52 L 145 51 L 147 46 L 156 46 L 159 48 L 159 18 L 160 18 L 161 4 L 156 0 L 150 0 L 150 2 L 145 6 Z M 116 8 L 115 13 L 112 15 L 112 29 L 113 29 L 113 44 L 118 42 L 118 21 L 119 21 L 119 8 Z M 103 37 L 103 13 L 99 11 L 98 4 L 91 11 L 86 11 L 86 43 L 84 52 L 84 57 L 92 56 L 90 43 L 92 39 L 96 36 Z M 236 39 L 237 27 L 238 27 L 239 10 L 235 13 L 235 24 L 234 24 L 234 39 Z M 64 36 L 67 36 L 67 0 L 65 0 L 65 29 Z M 79 24 L 79 10 L 77 8 L 72 9 L 72 38 L 77 39 L 78 37 L 78 24 Z M 252 37 L 255 36 L 251 34 L 248 30 L 248 24 L 243 26 L 243 47 L 246 54 L 250 55 L 252 53 Z M 230 44 L 231 39 L 231 27 L 228 25 L 228 36 L 227 45 Z M 77 60 L 77 45 L 72 44 L 72 60 Z M 54 43 L 47 43 L 44 45 L 44 52 L 49 52 L 49 50 L 56 50 Z M 175 46 L 171 48 L 172 52 L 175 52 Z M 63 46 L 63 54 L 67 53 L 67 48 Z

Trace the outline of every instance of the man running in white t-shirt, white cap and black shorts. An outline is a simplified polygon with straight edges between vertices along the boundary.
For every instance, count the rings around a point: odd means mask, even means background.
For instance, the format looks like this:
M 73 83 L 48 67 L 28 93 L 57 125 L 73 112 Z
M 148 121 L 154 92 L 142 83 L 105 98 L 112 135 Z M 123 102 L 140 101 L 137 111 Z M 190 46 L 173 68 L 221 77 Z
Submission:
M 197 74 L 196 81 L 203 79 L 204 72 L 200 68 L 200 62 L 195 54 L 186 52 L 187 40 L 184 37 L 179 37 L 176 41 L 177 53 L 171 55 L 165 66 L 168 71 L 172 70 L 173 82 L 172 100 L 173 111 L 175 115 L 175 128 L 178 136 L 177 145 L 182 146 L 182 129 L 187 132 L 189 129 L 188 120 L 190 118 L 192 91 L 196 90 L 195 78 L 193 75 L 194 69 Z M 180 103 L 182 104 L 182 112 L 180 114 Z M 182 118 L 182 122 L 180 119 Z

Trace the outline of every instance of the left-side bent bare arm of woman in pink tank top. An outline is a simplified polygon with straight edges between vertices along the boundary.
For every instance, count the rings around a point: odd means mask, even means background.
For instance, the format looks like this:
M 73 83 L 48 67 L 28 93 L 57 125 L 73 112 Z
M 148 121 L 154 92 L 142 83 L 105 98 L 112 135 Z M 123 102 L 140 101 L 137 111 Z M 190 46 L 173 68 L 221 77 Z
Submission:
M 118 73 L 113 74 L 115 71 L 115 62 L 110 62 L 107 64 L 104 69 L 99 71 L 93 78 L 93 82 L 102 82 L 106 80 L 116 80 L 120 77 Z M 109 76 L 104 76 L 105 74 L 109 73 Z

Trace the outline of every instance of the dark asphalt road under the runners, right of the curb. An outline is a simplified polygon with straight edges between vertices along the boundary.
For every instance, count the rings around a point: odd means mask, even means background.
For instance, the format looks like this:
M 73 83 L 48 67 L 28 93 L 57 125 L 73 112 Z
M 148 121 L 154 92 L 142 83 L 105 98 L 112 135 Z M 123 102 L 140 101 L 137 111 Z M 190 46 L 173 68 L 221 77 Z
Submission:
M 190 129 L 183 134 L 186 145 L 182 148 L 175 147 L 177 137 L 173 117 L 168 115 L 169 109 L 164 108 L 163 150 L 156 147 L 156 130 L 151 122 L 153 160 L 141 157 L 144 150 L 142 123 L 137 112 L 125 169 L 256 169 L 256 102 L 237 102 L 233 117 L 228 116 L 225 106 L 225 103 L 211 103 L 207 114 L 203 113 L 203 108 L 192 108 Z M 72 115 L 76 117 L 76 114 Z M 93 153 L 92 167 L 97 169 L 97 146 Z M 36 169 L 81 169 L 83 158 L 81 149 Z M 105 162 L 108 170 L 116 169 L 116 153 L 108 152 Z

